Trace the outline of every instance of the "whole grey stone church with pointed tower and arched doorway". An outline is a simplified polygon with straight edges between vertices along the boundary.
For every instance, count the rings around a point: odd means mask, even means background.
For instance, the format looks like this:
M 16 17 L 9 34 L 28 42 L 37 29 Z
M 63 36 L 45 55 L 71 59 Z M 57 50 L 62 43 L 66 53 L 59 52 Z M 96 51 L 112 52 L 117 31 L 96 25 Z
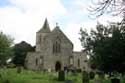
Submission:
M 56 26 L 50 30 L 47 19 L 36 33 L 36 51 L 29 52 L 25 66 L 30 70 L 63 70 L 65 67 L 88 68 L 87 57 L 83 52 L 74 52 L 73 43 Z

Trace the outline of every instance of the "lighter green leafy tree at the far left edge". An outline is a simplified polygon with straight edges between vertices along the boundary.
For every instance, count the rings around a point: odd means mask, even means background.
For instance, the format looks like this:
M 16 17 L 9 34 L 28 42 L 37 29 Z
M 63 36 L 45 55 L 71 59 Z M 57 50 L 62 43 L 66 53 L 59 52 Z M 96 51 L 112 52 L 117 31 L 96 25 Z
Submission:
M 12 55 L 12 43 L 13 39 L 10 36 L 0 32 L 0 65 L 5 65 L 8 57 Z

